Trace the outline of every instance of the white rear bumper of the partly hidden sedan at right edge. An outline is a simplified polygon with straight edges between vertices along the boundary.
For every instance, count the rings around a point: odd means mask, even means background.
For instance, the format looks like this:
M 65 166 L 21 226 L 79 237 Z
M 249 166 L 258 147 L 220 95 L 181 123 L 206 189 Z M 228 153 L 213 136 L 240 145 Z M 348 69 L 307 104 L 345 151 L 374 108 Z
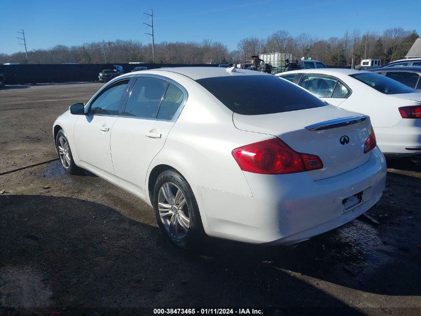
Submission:
M 420 123 L 421 119 L 402 119 L 393 127 L 375 127 L 377 145 L 387 157 L 405 157 L 421 154 Z

